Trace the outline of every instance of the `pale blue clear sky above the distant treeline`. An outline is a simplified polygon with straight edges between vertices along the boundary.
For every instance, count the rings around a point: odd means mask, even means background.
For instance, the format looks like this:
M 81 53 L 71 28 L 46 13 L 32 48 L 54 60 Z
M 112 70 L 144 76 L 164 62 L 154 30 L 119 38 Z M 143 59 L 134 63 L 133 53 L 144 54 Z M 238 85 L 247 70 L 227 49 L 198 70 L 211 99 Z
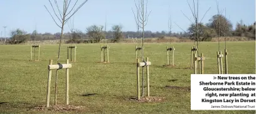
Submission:
M 54 2 L 51 0 L 53 5 Z M 61 7 L 62 0 L 57 0 Z M 72 0 L 72 4 L 76 0 Z M 80 4 L 83 0 L 78 0 Z M 136 0 L 137 1 L 137 0 Z M 219 9 L 226 9 L 226 16 L 232 22 L 233 28 L 241 19 L 244 24 L 249 25 L 255 22 L 255 0 L 217 0 Z M 193 0 L 188 0 L 193 7 Z M 145 31 L 168 31 L 168 20 L 171 15 L 173 22 L 173 32 L 183 32 L 191 22 L 184 14 L 193 21 L 193 15 L 189 9 L 186 0 L 148 0 L 147 9 L 151 11 L 148 24 Z M 196 2 L 196 0 L 195 0 Z M 4 27 L 6 27 L 6 37 L 14 29 L 23 29 L 29 33 L 35 29 L 40 33 L 60 32 L 61 29 L 56 26 L 45 6 L 53 14 L 50 2 L 48 0 L 2 0 L 0 1 L 0 32 L 4 36 Z M 199 0 L 199 19 L 201 21 L 205 12 L 205 17 L 201 22 L 208 23 L 209 19 L 217 14 L 216 0 Z M 122 31 L 137 31 L 132 8 L 136 10 L 134 0 L 88 0 L 83 7 L 75 14 L 74 29 L 86 32 L 88 26 L 93 24 L 105 26 L 107 31 L 114 25 L 122 25 Z M 71 9 L 71 7 L 70 7 Z M 182 11 L 182 12 L 181 12 Z M 225 14 L 225 12 L 223 13 Z M 55 17 L 55 15 L 53 14 Z M 57 18 L 55 18 L 57 19 Z M 180 29 L 176 24 L 180 26 Z M 60 22 L 58 22 L 60 24 Z M 66 24 L 64 32 L 70 29 Z

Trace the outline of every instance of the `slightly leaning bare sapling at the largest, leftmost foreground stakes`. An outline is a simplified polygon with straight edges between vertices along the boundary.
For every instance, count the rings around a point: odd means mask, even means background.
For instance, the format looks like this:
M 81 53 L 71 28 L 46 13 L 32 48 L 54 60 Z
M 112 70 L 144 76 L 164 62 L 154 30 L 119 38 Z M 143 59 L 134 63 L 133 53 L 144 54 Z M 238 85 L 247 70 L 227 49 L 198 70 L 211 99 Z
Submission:
M 45 6 L 46 10 L 49 12 L 49 14 L 51 15 L 51 18 L 53 19 L 53 21 L 55 22 L 55 24 L 60 27 L 61 29 L 61 35 L 60 35 L 60 44 L 58 47 L 58 64 L 60 64 L 60 45 L 61 45 L 61 39 L 63 38 L 63 29 L 64 29 L 64 25 L 68 22 L 68 20 L 70 19 L 70 17 L 72 17 L 82 6 L 83 4 L 85 4 L 85 2 L 87 2 L 88 0 L 84 0 L 78 7 L 75 8 L 75 6 L 77 5 L 78 0 L 75 0 L 75 4 L 73 4 L 71 7 L 71 9 L 69 10 L 68 8 L 70 7 L 70 2 L 72 0 L 63 0 L 63 7 L 62 9 L 60 9 L 58 2 L 56 0 L 52 0 L 55 4 L 55 7 L 53 6 L 53 4 L 51 3 L 51 0 L 48 0 L 51 4 L 51 8 L 53 9 L 53 13 L 55 14 L 56 17 L 53 17 L 53 15 L 51 14 L 51 12 L 47 9 L 47 7 Z M 62 11 L 61 11 L 62 10 Z M 58 22 L 60 22 L 58 24 Z M 56 96 L 57 96 L 57 79 L 58 79 L 58 70 L 56 70 L 56 79 L 55 79 L 55 105 L 57 105 L 57 100 L 56 100 Z

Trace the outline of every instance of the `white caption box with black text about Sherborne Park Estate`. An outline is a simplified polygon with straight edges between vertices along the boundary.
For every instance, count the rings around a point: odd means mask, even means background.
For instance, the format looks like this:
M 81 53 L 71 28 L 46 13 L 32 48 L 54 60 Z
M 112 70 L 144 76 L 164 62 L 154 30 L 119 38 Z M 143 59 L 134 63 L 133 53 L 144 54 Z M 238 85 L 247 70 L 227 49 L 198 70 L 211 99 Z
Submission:
M 256 110 L 255 77 L 191 74 L 191 110 Z

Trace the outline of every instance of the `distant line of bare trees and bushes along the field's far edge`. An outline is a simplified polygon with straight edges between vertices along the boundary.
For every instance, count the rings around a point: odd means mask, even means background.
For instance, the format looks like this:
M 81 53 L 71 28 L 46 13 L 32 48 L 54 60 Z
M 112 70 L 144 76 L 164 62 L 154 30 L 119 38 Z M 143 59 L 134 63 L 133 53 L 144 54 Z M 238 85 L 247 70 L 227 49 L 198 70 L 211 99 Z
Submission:
M 211 40 L 212 37 L 225 37 L 225 36 L 241 36 L 241 37 L 250 37 L 255 39 L 255 22 L 251 25 L 243 24 L 243 21 L 237 22 L 235 29 L 232 29 L 232 23 L 223 15 L 215 15 L 209 19 L 209 22 L 206 24 L 200 23 L 198 24 L 198 34 L 200 36 L 199 40 L 208 41 Z M 120 39 L 127 38 L 140 38 L 138 33 L 135 31 L 122 31 L 121 25 L 112 26 L 111 31 L 104 31 L 104 26 L 92 25 L 87 27 L 86 32 L 82 32 L 81 30 L 75 29 L 73 33 L 67 32 L 64 34 L 63 39 L 67 39 L 68 42 L 90 42 L 97 43 L 102 39 L 112 39 L 113 42 L 119 42 Z M 50 32 L 38 33 L 37 31 L 33 31 L 32 33 L 27 33 L 21 29 L 16 29 L 10 32 L 11 38 L 9 39 L 9 43 L 11 44 L 19 44 L 21 42 L 26 42 L 28 40 L 56 40 L 60 39 L 60 32 L 55 34 L 51 34 Z M 163 39 L 164 37 L 178 37 L 178 38 L 188 38 L 188 39 L 196 39 L 196 27 L 195 24 L 189 25 L 188 29 L 183 32 L 151 32 L 144 31 L 144 37 L 159 37 L 159 39 Z M 71 40 L 72 36 L 72 40 Z

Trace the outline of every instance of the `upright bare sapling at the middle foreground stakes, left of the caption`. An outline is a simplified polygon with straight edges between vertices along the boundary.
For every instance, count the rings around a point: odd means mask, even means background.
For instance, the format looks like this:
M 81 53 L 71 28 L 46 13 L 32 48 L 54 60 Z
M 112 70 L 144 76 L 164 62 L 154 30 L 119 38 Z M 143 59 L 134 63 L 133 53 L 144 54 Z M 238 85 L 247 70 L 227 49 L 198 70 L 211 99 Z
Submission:
M 134 13 L 134 10 L 132 9 L 132 12 L 134 14 L 134 18 L 136 20 L 136 24 L 138 27 L 142 29 L 142 51 L 141 51 L 141 60 L 144 61 L 144 28 L 147 26 L 147 22 L 149 19 L 149 14 L 147 12 L 147 0 L 146 4 L 144 4 L 144 0 L 138 0 L 138 4 L 136 4 L 136 1 L 134 0 L 134 4 L 137 9 L 137 15 Z M 146 9 L 145 9 L 146 6 Z M 137 17 L 136 17 L 137 16 Z M 144 97 L 144 67 L 142 67 L 142 97 Z

